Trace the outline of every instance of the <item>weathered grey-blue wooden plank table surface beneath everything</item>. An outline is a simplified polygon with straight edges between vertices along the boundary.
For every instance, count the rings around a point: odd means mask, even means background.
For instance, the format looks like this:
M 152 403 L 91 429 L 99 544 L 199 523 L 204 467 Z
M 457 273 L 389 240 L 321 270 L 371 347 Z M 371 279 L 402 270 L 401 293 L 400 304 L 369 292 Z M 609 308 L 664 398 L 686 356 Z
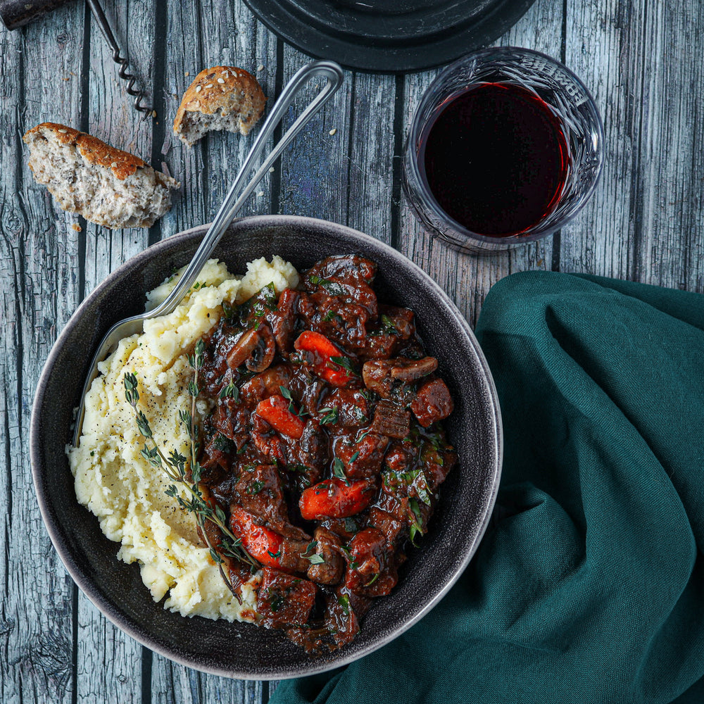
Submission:
M 208 222 L 249 149 L 251 135 L 212 134 L 190 150 L 175 142 L 170 125 L 192 78 L 210 65 L 238 65 L 274 99 L 308 58 L 241 0 L 103 6 L 156 119 L 139 120 L 81 2 L 20 30 L 0 29 L 0 702 L 265 702 L 273 684 L 175 665 L 123 634 L 78 591 L 39 515 L 28 434 L 39 372 L 82 298 L 134 253 Z M 436 70 L 346 72 L 343 89 L 245 213 L 312 215 L 383 239 L 434 277 L 472 325 L 489 287 L 528 269 L 703 291 L 704 4 L 537 0 L 497 43 L 561 59 L 603 115 L 601 184 L 555 237 L 477 258 L 434 241 L 413 218 L 401 191 L 401 150 Z M 157 168 L 167 164 L 183 182 L 170 213 L 151 230 L 111 231 L 59 210 L 32 180 L 21 141 L 46 120 L 91 132 Z

